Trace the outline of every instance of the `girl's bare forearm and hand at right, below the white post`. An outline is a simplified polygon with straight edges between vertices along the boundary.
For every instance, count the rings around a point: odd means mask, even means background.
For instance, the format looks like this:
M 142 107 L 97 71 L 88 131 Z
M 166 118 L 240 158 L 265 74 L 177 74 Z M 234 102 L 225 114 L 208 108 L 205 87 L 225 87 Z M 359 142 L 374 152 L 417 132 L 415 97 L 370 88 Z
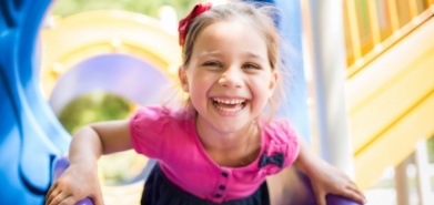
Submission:
M 362 191 L 345 173 L 316 156 L 303 140 L 300 144 L 300 153 L 294 165 L 311 180 L 319 205 L 326 204 L 327 194 L 342 195 L 361 204 L 365 203 Z

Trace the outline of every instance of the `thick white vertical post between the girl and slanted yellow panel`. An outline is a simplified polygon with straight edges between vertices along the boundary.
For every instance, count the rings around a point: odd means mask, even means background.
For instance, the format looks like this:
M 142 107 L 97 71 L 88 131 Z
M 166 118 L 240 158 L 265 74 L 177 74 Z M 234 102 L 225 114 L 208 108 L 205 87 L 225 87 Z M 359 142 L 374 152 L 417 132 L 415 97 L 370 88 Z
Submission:
M 313 121 L 321 156 L 354 176 L 345 106 L 346 51 L 342 0 L 302 3 L 303 51 L 313 94 Z

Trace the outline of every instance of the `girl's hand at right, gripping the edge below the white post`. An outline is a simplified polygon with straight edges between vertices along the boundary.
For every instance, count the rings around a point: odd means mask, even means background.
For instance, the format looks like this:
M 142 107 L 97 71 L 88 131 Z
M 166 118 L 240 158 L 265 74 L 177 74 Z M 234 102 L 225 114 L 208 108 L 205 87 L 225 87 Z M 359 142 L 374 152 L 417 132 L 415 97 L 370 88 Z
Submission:
M 366 202 L 362 191 L 345 173 L 324 161 L 311 170 L 309 177 L 319 205 L 326 205 L 327 194 L 341 195 L 360 204 Z

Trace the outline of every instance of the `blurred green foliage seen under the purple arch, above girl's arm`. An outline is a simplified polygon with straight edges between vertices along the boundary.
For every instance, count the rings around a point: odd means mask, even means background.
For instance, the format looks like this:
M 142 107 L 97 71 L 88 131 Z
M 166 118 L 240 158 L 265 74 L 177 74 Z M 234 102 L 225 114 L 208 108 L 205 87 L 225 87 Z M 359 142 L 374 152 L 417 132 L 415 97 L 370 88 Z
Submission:
M 70 102 L 59 115 L 69 133 L 92 122 L 127 119 L 130 102 L 113 94 L 95 92 Z

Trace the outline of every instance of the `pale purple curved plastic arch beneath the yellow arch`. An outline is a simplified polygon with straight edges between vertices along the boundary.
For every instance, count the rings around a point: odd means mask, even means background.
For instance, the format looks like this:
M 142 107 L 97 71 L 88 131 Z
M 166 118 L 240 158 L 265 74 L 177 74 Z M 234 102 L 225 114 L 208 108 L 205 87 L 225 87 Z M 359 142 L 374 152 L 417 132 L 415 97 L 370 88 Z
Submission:
M 140 105 L 155 104 L 171 85 L 170 79 L 149 62 L 132 55 L 103 54 L 78 63 L 59 78 L 50 105 L 60 113 L 69 102 L 93 91 L 117 94 Z

